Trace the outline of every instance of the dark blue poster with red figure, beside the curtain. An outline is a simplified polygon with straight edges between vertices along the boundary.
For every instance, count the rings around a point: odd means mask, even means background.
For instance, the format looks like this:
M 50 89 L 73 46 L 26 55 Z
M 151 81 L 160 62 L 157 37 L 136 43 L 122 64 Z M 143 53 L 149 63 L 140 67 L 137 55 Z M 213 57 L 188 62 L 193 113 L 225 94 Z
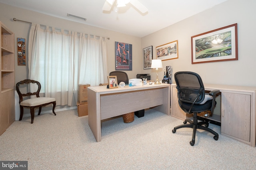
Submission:
M 116 42 L 116 70 L 132 70 L 132 45 Z

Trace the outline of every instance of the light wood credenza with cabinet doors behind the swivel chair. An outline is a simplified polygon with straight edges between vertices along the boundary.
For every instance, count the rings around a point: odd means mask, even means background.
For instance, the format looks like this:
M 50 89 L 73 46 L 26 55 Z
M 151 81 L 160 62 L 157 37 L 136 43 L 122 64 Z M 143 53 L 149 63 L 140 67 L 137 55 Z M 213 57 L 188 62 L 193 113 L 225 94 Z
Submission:
M 256 87 L 204 84 L 204 89 L 221 92 L 221 134 L 255 147 Z M 171 114 L 184 120 L 190 115 L 180 108 L 177 93 L 176 84 L 172 84 Z

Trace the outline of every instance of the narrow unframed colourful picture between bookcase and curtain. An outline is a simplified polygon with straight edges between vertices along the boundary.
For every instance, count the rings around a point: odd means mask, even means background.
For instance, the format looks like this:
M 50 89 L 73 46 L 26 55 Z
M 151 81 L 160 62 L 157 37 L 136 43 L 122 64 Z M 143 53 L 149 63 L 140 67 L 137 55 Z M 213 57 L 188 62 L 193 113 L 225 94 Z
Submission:
M 24 38 L 17 38 L 18 66 L 26 66 L 26 43 Z

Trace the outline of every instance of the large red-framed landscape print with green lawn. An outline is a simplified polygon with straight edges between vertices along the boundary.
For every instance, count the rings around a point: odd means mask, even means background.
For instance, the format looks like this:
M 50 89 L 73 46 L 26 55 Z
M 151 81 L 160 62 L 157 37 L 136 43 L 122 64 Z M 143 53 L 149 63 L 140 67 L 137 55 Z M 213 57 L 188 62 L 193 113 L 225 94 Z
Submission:
M 237 23 L 191 37 L 192 64 L 238 60 Z

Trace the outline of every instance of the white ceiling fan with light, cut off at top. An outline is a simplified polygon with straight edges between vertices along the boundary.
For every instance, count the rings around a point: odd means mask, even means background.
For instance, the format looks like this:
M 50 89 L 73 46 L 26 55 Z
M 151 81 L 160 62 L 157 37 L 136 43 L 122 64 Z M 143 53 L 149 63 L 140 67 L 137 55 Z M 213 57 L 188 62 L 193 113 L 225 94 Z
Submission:
M 110 11 L 112 6 L 114 5 L 114 2 L 116 1 L 116 8 L 115 11 L 118 11 L 119 7 L 126 6 L 126 4 L 130 3 L 135 8 L 137 8 L 141 13 L 148 12 L 148 8 L 146 8 L 142 3 L 140 3 L 138 0 L 106 0 L 104 3 L 102 10 L 104 11 Z

